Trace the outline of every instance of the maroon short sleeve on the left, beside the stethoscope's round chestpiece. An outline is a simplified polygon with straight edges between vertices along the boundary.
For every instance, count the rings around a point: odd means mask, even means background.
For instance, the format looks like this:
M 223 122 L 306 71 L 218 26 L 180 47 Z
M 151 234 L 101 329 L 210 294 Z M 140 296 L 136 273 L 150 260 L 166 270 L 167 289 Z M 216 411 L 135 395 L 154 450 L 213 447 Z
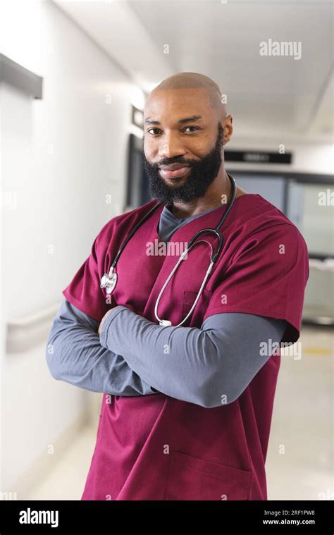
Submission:
M 89 257 L 75 273 L 72 281 L 62 291 L 71 305 L 97 321 L 101 321 L 104 314 L 110 309 L 110 304 L 106 303 L 104 293 L 100 288 L 101 276 L 104 273 L 105 256 L 101 233 L 102 231 L 95 238 Z

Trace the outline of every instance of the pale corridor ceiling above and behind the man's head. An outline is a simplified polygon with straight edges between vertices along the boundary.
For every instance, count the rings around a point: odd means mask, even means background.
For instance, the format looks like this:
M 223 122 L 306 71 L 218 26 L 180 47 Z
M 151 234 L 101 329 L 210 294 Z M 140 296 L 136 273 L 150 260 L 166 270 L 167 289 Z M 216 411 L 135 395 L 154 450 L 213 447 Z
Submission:
M 173 73 L 203 73 L 226 94 L 234 135 L 333 142 L 331 2 L 54 3 L 147 92 Z M 268 39 L 300 42 L 301 59 L 261 56 Z

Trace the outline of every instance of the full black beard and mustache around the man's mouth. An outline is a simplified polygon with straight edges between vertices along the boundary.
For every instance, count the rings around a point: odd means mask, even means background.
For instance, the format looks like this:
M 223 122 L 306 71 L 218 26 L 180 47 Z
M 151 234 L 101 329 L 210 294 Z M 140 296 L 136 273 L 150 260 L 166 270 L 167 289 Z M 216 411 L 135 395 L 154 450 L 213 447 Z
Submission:
M 149 178 L 149 194 L 153 199 L 169 206 L 173 202 L 190 202 L 192 199 L 204 197 L 209 185 L 214 182 L 221 167 L 221 147 L 223 147 L 223 127 L 218 124 L 218 135 L 214 148 L 201 160 L 185 160 L 181 156 L 163 159 L 159 164 L 150 164 L 144 155 L 144 170 Z M 171 164 L 187 164 L 191 167 L 190 174 L 181 186 L 170 187 L 159 175 L 159 166 Z

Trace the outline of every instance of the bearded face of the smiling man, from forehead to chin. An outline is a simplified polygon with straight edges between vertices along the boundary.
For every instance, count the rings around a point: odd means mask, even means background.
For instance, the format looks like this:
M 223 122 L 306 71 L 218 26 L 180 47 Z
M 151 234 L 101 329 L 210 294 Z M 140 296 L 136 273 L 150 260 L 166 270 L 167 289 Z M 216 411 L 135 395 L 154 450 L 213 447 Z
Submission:
M 223 127 L 205 90 L 156 92 L 144 111 L 151 197 L 167 205 L 203 197 L 221 167 L 222 145 Z

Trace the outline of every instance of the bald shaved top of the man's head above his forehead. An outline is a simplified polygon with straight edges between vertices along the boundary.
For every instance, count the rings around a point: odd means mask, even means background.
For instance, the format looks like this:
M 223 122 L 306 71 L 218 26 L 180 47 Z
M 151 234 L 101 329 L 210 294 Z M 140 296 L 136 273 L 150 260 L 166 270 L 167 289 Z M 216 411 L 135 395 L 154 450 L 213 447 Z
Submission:
M 162 80 L 154 90 L 149 93 L 147 102 L 159 90 L 184 90 L 184 89 L 204 89 L 209 96 L 211 108 L 217 113 L 219 121 L 223 121 L 226 116 L 226 106 L 221 102 L 221 90 L 209 76 L 199 73 L 178 73 Z

